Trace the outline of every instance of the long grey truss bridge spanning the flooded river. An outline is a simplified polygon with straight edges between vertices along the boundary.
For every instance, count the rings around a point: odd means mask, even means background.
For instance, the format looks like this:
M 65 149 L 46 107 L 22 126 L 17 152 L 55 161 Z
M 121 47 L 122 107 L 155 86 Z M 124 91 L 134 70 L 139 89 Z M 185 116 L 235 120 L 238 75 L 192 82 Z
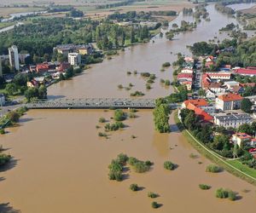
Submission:
M 108 108 L 137 108 L 152 109 L 155 107 L 154 99 L 128 99 L 128 98 L 80 98 L 55 99 L 38 101 L 26 104 L 28 109 L 108 109 Z M 177 108 L 177 104 L 170 106 Z

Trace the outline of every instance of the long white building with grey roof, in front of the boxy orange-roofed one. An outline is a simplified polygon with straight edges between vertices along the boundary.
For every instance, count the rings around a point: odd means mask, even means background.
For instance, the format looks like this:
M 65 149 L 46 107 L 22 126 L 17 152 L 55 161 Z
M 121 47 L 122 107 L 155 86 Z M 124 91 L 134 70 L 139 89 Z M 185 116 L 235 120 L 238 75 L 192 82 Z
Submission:
M 238 128 L 241 124 L 251 123 L 252 119 L 247 113 L 222 113 L 214 116 L 214 124 L 224 128 Z

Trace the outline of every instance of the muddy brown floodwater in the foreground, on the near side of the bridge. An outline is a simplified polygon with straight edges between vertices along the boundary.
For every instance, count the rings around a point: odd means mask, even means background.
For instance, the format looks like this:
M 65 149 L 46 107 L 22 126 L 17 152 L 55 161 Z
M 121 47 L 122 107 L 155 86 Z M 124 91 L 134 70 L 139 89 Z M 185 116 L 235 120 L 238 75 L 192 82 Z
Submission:
M 110 120 L 113 112 L 31 111 L 22 127 L 1 138 L 17 159 L 14 168 L 1 172 L 1 201 L 22 212 L 153 212 L 147 197 L 159 193 L 159 212 L 241 212 L 253 210 L 255 187 L 228 174 L 205 172 L 210 162 L 200 157 L 177 131 L 154 131 L 152 112 L 137 112 L 125 121 L 129 127 L 99 138 L 98 118 Z M 136 135 L 136 139 L 131 139 Z M 145 174 L 128 172 L 125 181 L 108 180 L 108 164 L 118 153 L 154 162 Z M 190 153 L 199 157 L 189 158 Z M 177 170 L 163 169 L 165 160 Z M 198 164 L 198 162 L 202 164 Z M 133 193 L 131 183 L 145 187 Z M 212 186 L 202 191 L 198 184 Z M 229 187 L 241 195 L 236 202 L 214 197 L 216 188 Z M 248 193 L 241 191 L 247 189 Z

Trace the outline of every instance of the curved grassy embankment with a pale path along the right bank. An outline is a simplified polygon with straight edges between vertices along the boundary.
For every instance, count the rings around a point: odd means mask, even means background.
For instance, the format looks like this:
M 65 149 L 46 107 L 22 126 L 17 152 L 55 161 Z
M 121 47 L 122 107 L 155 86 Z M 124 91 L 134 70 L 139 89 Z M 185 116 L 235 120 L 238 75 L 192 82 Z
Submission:
M 196 141 L 195 138 L 189 134 L 188 130 L 184 130 L 183 124 L 181 124 L 180 120 L 177 118 L 177 111 L 174 113 L 174 119 L 178 128 L 182 131 L 182 134 L 186 137 L 189 143 L 195 147 L 199 153 L 212 160 L 212 162 L 220 165 L 224 168 L 224 170 L 229 171 L 234 176 L 240 177 L 242 180 L 256 186 L 256 170 L 248 168 L 247 165 L 241 164 L 238 160 L 225 160 L 224 158 L 219 158 L 216 153 L 209 150 L 199 141 Z

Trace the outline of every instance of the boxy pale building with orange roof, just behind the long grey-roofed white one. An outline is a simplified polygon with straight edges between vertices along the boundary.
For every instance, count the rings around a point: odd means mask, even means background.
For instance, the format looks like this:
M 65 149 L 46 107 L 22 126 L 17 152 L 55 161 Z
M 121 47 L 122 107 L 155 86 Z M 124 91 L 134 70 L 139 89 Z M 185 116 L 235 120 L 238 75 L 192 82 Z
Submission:
M 229 93 L 229 94 L 219 95 L 215 101 L 216 108 L 221 109 L 222 111 L 240 109 L 242 99 L 243 97 L 241 97 L 241 95 L 239 94 Z

